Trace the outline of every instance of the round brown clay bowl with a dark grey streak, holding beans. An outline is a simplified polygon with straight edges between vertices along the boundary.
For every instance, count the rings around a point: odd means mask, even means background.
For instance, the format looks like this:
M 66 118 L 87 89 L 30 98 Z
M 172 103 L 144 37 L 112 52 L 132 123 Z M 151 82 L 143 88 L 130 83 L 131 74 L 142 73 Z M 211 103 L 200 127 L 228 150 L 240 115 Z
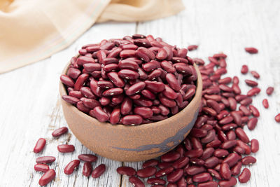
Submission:
M 66 74 L 69 64 L 62 71 Z M 66 122 L 77 139 L 94 153 L 112 160 L 134 162 L 156 158 L 176 147 L 188 135 L 197 119 L 202 97 L 202 78 L 197 71 L 197 90 L 193 100 L 176 115 L 138 126 L 111 125 L 79 111 L 62 99 Z M 59 83 L 60 95 L 66 95 Z

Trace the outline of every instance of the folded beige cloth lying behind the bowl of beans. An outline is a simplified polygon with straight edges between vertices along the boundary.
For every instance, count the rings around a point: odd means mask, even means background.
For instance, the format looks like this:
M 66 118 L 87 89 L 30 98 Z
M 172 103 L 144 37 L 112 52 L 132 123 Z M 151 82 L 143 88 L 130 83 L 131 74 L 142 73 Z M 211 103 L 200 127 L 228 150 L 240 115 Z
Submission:
M 181 0 L 0 0 L 0 73 L 50 57 L 94 22 L 174 15 Z

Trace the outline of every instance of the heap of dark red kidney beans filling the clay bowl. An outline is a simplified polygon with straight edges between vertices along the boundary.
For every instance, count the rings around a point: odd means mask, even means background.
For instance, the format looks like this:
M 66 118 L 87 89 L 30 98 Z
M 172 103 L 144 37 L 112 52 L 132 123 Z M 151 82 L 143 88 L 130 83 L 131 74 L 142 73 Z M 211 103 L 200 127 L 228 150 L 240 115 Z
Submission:
M 62 99 L 101 122 L 164 120 L 195 95 L 197 72 L 187 53 L 141 34 L 87 44 L 60 77 L 68 91 Z

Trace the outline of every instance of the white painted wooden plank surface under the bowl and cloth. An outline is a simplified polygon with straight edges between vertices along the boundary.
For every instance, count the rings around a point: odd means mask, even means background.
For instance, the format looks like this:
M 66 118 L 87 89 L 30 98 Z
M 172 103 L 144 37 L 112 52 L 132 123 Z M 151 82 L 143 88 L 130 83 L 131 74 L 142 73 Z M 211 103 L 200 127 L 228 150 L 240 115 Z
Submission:
M 104 163 L 107 169 L 99 179 L 82 175 L 82 165 L 70 176 L 63 173 L 64 166 L 77 158 L 79 153 L 90 153 L 85 146 L 71 136 L 52 139 L 51 132 L 66 125 L 59 102 L 59 75 L 70 57 L 85 43 L 98 42 L 136 33 L 153 34 L 177 46 L 199 44 L 191 57 L 202 57 L 223 51 L 228 55 L 228 75 L 241 77 L 241 89 L 248 90 L 241 75 L 241 64 L 257 70 L 262 92 L 253 104 L 260 110 L 258 126 L 249 132 L 250 138 L 260 141 L 258 162 L 250 166 L 251 180 L 237 186 L 280 186 L 280 124 L 274 116 L 280 112 L 280 1 L 225 1 L 188 0 L 186 10 L 169 18 L 141 23 L 112 23 L 94 25 L 69 48 L 52 57 L 0 75 L 0 186 L 38 186 L 41 174 L 34 172 L 35 159 L 41 155 L 57 158 L 50 167 L 57 176 L 48 186 L 132 186 L 127 176 L 116 173 L 120 165 L 135 169 L 141 162 L 122 163 L 99 157 L 93 167 Z M 249 55 L 244 47 L 255 46 L 258 55 Z M 267 97 L 268 85 L 275 88 Z M 269 100 L 269 109 L 262 107 L 262 99 Z M 39 137 L 47 139 L 42 153 L 32 149 Z M 57 152 L 57 145 L 69 143 L 76 146 L 73 154 Z

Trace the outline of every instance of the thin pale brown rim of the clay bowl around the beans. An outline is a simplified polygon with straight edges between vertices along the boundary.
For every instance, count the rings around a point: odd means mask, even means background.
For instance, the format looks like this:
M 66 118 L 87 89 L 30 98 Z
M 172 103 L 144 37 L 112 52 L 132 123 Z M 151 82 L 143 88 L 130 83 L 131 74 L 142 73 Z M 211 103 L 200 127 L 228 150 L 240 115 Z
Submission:
M 80 55 L 76 55 L 76 57 L 79 57 L 79 56 Z M 71 64 L 71 62 L 68 62 L 66 64 L 66 67 L 64 67 L 64 69 L 62 70 L 61 75 L 66 75 L 66 72 L 69 69 L 70 64 Z M 111 124 L 111 123 L 100 122 L 99 120 L 97 120 L 96 118 L 93 118 L 92 116 L 88 115 L 87 113 L 83 113 L 83 111 L 79 111 L 78 108 L 76 106 L 74 106 L 73 104 L 69 104 L 67 102 L 66 102 L 66 104 L 73 110 L 73 112 L 77 113 L 78 116 L 85 118 L 85 120 L 89 120 L 94 125 L 102 125 L 102 127 L 105 127 L 105 128 L 106 127 L 107 128 L 116 128 L 116 129 L 131 128 L 132 130 L 134 128 L 137 128 L 138 130 L 140 130 L 140 129 L 146 129 L 146 128 L 150 128 L 150 127 L 155 127 L 155 125 L 159 126 L 159 125 L 161 125 L 161 123 L 172 123 L 173 119 L 176 118 L 176 116 L 179 116 L 180 114 L 182 115 L 182 113 L 188 111 L 188 109 L 191 107 L 191 105 L 195 104 L 195 100 L 197 99 L 197 97 L 201 97 L 199 92 L 202 92 L 202 76 L 200 74 L 200 69 L 198 68 L 197 64 L 194 63 L 194 67 L 195 67 L 195 70 L 197 71 L 197 87 L 195 89 L 195 97 L 193 97 L 193 99 L 188 103 L 188 105 L 185 108 L 183 108 L 181 111 L 179 111 L 179 113 L 176 113 L 174 116 L 166 118 L 165 120 L 159 120 L 157 122 L 146 123 L 146 124 L 141 124 L 141 125 Z M 62 99 L 62 95 L 67 95 L 66 88 L 61 81 L 59 81 L 59 94 L 60 94 L 60 99 Z M 62 99 L 62 102 L 65 102 L 65 101 Z M 106 125 L 106 126 L 104 126 L 104 125 Z

